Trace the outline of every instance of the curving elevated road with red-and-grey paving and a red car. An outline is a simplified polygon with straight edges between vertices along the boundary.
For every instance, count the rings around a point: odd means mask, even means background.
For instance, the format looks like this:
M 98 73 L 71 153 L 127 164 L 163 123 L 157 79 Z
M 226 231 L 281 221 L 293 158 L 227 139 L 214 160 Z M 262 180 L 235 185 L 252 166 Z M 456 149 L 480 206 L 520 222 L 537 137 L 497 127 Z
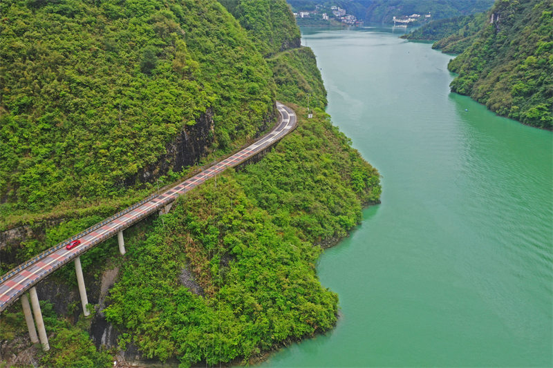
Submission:
M 93 246 L 111 238 L 113 235 L 119 235 L 120 249 L 124 253 L 124 244 L 122 244 L 122 231 L 124 229 L 156 211 L 167 211 L 168 207 L 166 206 L 174 202 L 180 195 L 191 191 L 191 189 L 214 177 L 214 175 L 222 173 L 226 168 L 245 162 L 290 133 L 297 126 L 297 117 L 294 111 L 279 102 L 277 102 L 277 108 L 281 115 L 279 124 L 254 144 L 170 188 L 165 193 L 153 195 L 129 207 L 129 209 L 100 222 L 100 224 L 92 226 L 86 231 L 73 236 L 73 238 L 57 244 L 53 248 L 44 251 L 40 255 L 37 255 L 37 257 L 6 273 L 0 279 L 0 313 L 15 302 L 25 291 L 34 287 L 38 282 L 50 275 L 50 273 L 63 267 L 68 262 L 75 260 L 75 264 L 78 262 L 80 266 L 79 255 L 86 253 Z M 73 240 L 80 240 L 80 244 L 71 250 L 67 250 L 66 245 Z M 79 273 L 77 272 L 78 277 Z M 83 304 L 85 303 L 83 302 Z

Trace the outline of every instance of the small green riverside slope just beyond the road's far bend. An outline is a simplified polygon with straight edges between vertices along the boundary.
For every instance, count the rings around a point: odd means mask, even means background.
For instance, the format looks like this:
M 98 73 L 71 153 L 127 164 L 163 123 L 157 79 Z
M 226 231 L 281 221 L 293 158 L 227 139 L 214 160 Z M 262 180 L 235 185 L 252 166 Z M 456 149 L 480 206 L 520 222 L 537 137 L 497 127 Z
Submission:
M 310 48 L 302 47 L 281 52 L 268 59 L 274 82 L 277 84 L 277 98 L 311 108 L 326 106 L 326 90 L 317 68 L 317 59 Z

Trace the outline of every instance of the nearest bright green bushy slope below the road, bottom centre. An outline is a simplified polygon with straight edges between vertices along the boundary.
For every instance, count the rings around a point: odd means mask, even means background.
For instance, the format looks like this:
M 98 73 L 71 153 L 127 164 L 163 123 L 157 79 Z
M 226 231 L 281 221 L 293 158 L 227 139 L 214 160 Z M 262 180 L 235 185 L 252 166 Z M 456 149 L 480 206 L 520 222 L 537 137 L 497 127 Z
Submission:
M 149 358 L 245 360 L 335 323 L 337 296 L 315 276 L 319 248 L 272 223 L 230 175 L 181 200 L 135 251 L 106 317 Z M 179 282 L 194 272 L 205 297 Z

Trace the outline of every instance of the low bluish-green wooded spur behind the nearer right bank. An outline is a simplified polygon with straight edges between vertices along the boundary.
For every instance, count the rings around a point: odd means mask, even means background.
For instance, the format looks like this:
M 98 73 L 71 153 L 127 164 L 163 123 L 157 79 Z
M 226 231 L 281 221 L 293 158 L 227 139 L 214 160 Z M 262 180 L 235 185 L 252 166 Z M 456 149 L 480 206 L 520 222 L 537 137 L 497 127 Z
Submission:
M 449 54 L 460 54 L 476 39 L 487 21 L 487 14 L 476 13 L 465 17 L 438 19 L 403 35 L 403 39 L 433 40 L 432 48 Z

